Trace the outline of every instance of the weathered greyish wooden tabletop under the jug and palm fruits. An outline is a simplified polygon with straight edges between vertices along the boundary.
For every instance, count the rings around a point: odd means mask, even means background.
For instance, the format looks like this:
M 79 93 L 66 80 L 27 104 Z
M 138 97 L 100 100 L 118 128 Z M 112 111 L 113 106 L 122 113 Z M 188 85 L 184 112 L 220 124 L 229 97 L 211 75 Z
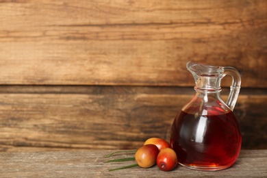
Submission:
M 226 170 L 199 171 L 177 166 L 170 172 L 133 167 L 109 171 L 111 168 L 134 164 L 134 161 L 105 163 L 131 157 L 134 153 L 114 151 L 49 151 L 0 153 L 0 177 L 267 177 L 267 150 L 242 150 L 236 163 Z

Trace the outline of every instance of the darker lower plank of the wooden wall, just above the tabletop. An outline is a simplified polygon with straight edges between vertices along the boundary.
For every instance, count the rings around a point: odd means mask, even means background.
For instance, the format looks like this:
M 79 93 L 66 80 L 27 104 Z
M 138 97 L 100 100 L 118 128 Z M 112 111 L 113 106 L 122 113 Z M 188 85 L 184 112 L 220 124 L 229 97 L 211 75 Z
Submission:
M 1 151 L 135 149 L 150 137 L 168 140 L 173 118 L 194 92 L 168 87 L 84 86 L 63 92 L 51 87 L 54 92 L 32 93 L 16 89 L 0 94 Z M 264 92 L 244 92 L 238 99 L 234 112 L 243 149 L 267 147 Z

